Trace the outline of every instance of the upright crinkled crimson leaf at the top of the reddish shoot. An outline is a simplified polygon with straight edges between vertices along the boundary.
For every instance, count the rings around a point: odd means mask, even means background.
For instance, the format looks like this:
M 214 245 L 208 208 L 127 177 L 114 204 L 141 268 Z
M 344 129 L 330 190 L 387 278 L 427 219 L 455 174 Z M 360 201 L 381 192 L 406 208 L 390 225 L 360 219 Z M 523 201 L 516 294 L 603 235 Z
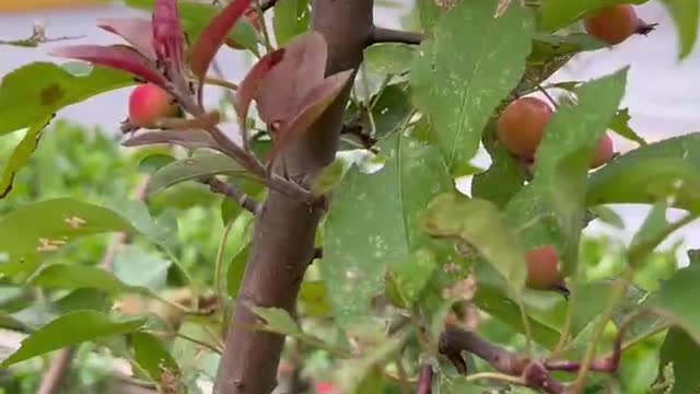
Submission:
M 151 19 L 155 56 L 179 69 L 185 61 L 185 31 L 179 21 L 177 0 L 156 0 Z

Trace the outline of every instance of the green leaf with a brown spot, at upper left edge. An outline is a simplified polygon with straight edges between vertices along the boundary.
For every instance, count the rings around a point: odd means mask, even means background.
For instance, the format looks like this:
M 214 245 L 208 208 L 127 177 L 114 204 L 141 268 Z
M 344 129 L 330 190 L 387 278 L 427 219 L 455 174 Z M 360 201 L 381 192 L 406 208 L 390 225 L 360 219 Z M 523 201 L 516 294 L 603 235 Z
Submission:
M 101 67 L 77 77 L 50 62 L 23 66 L 5 74 L 0 83 L 0 136 L 46 121 L 63 107 L 133 83 L 129 74 Z

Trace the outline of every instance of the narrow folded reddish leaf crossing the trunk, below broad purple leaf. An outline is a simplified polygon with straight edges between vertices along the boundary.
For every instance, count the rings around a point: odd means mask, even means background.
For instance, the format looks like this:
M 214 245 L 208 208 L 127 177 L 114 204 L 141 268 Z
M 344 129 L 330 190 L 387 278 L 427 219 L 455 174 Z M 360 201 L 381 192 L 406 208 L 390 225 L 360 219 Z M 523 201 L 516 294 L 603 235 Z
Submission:
M 313 88 L 300 103 L 300 109 L 290 121 L 280 124 L 275 135 L 275 147 L 269 160 L 275 160 L 279 152 L 292 140 L 299 138 L 323 115 L 346 86 L 353 70 L 346 70 L 326 78 Z

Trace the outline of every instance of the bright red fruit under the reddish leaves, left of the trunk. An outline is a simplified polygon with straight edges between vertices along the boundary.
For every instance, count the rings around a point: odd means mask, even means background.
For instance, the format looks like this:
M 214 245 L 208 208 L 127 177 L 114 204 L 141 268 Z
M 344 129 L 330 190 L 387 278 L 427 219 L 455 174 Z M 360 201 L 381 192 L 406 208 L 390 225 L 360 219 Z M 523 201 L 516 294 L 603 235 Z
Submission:
M 149 127 L 158 118 L 176 114 L 173 96 L 155 84 L 141 84 L 129 96 L 129 123 L 133 126 Z

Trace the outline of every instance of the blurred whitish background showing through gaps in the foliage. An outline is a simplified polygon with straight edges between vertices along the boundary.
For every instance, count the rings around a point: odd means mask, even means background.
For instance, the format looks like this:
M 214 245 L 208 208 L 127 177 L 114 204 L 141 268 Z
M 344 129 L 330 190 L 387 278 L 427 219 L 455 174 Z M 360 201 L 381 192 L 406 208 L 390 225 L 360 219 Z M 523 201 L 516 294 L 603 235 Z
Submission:
M 31 1 L 31 0 L 28 0 Z M 700 1 L 700 0 L 698 0 Z M 401 18 L 408 12 L 412 0 L 395 0 L 396 8 L 378 8 L 376 23 L 386 27 L 400 27 Z M 629 84 L 622 107 L 629 107 L 631 126 L 649 141 L 700 131 L 700 48 L 688 58 L 678 60 L 678 44 L 675 25 L 665 8 L 657 1 L 639 7 L 638 12 L 646 22 L 658 23 L 658 28 L 649 37 L 628 39 L 612 49 L 588 53 L 572 60 L 558 72 L 553 80 L 586 80 L 610 73 L 630 65 Z M 116 40 L 95 27 L 101 18 L 117 18 L 138 14 L 137 11 L 120 5 L 108 5 L 81 10 L 60 10 L 32 13 L 0 14 L 0 39 L 25 38 L 36 22 L 47 26 L 49 37 L 86 35 L 89 38 L 72 43 L 109 44 Z M 71 44 L 72 44 L 71 43 Z M 59 43 L 57 45 L 65 45 Z M 0 76 L 31 61 L 50 60 L 46 50 L 51 46 L 18 48 L 0 46 Z M 246 70 L 248 59 L 240 53 L 226 51 L 219 58 L 228 77 L 238 80 Z M 217 91 L 207 96 L 208 103 L 215 105 Z M 75 119 L 88 126 L 96 125 L 107 132 L 116 132 L 119 121 L 126 116 L 128 90 L 116 91 L 73 105 L 59 115 Z M 1 121 L 1 119 L 0 119 Z M 0 140 L 0 143 L 3 143 Z M 4 142 L 7 143 L 7 142 Z M 633 144 L 617 139 L 618 150 L 628 150 Z M 479 159 L 478 162 L 482 161 Z M 618 206 L 616 210 L 627 223 L 626 231 L 616 231 L 605 224 L 592 223 L 587 232 L 617 234 L 629 241 L 633 231 L 643 221 L 648 209 L 639 206 Z M 677 218 L 672 211 L 669 217 Z M 700 223 L 689 225 L 668 240 L 666 245 L 679 237 L 686 239 L 690 247 L 700 247 Z M 679 253 L 685 260 L 685 253 Z

